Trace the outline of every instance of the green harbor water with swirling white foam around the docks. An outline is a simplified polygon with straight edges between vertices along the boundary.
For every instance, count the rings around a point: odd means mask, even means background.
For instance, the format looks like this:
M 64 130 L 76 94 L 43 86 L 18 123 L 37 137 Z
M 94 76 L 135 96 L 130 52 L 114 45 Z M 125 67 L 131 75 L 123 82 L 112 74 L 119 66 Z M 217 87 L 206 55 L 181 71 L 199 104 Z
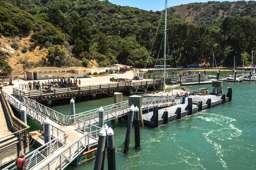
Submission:
M 194 89 L 211 85 L 193 85 Z M 224 82 L 233 100 L 157 128 L 141 127 L 141 148 L 123 154 L 126 121 L 107 122 L 114 130 L 117 170 L 256 169 L 256 82 Z M 125 96 L 125 98 L 127 98 Z M 113 98 L 76 103 L 76 113 L 113 104 Z M 52 107 L 70 114 L 70 106 Z M 94 161 L 66 170 L 93 170 Z M 107 170 L 107 160 L 105 160 Z

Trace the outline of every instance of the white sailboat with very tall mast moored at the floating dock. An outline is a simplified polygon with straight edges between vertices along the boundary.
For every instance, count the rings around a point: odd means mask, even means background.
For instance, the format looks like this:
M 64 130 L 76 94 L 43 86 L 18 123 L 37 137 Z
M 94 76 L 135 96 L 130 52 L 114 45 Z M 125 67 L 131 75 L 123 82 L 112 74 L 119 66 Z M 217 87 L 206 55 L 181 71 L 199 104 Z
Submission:
M 167 21 L 167 0 L 165 3 L 165 29 L 164 29 L 164 73 L 166 73 L 166 21 Z M 159 97 L 159 96 L 185 96 L 189 94 L 189 89 L 177 88 L 180 85 L 166 85 L 166 74 L 163 74 L 163 91 L 144 94 L 143 97 Z M 176 89 L 174 89 L 176 88 Z

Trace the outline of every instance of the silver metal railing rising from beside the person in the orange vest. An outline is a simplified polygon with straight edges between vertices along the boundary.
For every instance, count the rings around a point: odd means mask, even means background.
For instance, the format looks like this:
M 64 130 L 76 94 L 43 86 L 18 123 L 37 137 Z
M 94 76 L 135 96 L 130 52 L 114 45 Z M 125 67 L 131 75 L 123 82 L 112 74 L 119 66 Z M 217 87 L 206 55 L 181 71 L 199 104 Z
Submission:
M 50 142 L 44 144 L 43 146 L 39 147 L 38 149 L 34 150 L 33 152 L 26 155 L 27 160 L 27 170 L 34 169 L 33 167 L 38 166 L 42 162 L 45 162 L 49 159 L 54 153 L 58 150 L 61 150 L 65 143 L 62 141 L 64 140 L 66 133 L 58 136 L 55 139 L 52 139 Z M 3 170 L 16 170 L 15 162 L 10 164 L 9 166 L 5 167 Z

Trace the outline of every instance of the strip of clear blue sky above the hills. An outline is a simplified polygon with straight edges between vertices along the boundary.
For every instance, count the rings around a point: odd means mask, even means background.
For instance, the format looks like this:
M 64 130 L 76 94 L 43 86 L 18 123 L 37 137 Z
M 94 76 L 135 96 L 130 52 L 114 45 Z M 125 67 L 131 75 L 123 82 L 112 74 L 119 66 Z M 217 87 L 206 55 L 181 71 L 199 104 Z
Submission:
M 165 0 L 108 0 L 109 2 L 120 5 L 130 6 L 144 9 L 147 11 L 162 11 L 164 9 Z M 209 0 L 168 0 L 168 7 L 178 6 L 181 4 L 195 3 L 195 2 L 208 2 Z M 213 1 L 213 0 L 212 0 Z M 237 0 L 215 0 L 215 1 L 237 1 Z

